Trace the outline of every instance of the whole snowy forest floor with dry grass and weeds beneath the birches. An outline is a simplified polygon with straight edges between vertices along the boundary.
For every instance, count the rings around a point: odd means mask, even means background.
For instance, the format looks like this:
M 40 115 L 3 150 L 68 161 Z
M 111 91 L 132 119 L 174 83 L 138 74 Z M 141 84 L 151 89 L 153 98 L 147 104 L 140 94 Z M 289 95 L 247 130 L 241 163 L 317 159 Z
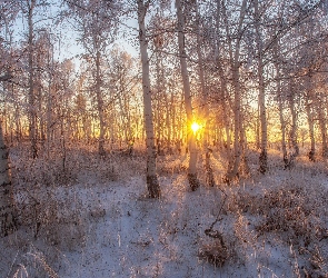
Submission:
M 158 159 L 162 197 L 147 198 L 145 157 L 26 159 L 11 150 L 19 230 L 0 239 L 0 277 L 328 277 L 328 169 L 299 157 L 284 170 L 227 186 L 221 153 L 217 185 L 189 189 L 187 157 Z M 62 167 L 66 171 L 63 172 Z M 217 220 L 216 237 L 206 230 Z

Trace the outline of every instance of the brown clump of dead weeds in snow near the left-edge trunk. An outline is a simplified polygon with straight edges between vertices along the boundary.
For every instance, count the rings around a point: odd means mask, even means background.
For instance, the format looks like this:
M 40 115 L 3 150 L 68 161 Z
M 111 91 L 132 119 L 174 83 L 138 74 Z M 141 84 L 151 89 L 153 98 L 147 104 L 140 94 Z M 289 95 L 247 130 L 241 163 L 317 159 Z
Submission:
M 68 189 L 59 193 L 53 188 L 37 186 L 17 196 L 18 220 L 31 240 L 41 239 L 62 251 L 82 247 L 87 234 L 86 208 L 77 196 L 72 203 Z

